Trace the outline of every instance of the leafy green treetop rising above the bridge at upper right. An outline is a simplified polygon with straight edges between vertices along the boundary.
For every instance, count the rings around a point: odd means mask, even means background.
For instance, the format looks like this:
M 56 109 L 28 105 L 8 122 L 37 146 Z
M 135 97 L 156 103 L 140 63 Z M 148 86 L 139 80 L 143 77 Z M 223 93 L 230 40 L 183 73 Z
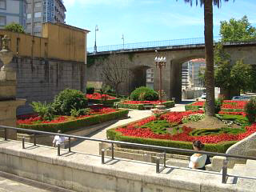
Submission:
M 239 20 L 222 21 L 220 35 L 223 42 L 252 41 L 256 40 L 256 28 L 250 25 L 245 15 Z

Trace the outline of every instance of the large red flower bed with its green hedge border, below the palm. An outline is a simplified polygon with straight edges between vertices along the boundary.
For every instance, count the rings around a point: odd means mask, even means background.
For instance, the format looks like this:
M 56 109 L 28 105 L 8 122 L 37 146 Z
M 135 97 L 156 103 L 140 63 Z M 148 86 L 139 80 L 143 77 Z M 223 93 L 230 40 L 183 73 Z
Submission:
M 170 112 L 162 114 L 160 119 L 170 122 L 171 126 L 173 124 L 182 124 L 182 118 L 187 117 L 190 114 L 197 113 L 198 112 L 195 111 Z M 152 131 L 150 128 L 146 128 L 145 126 L 142 128 L 146 123 L 154 121 L 156 121 L 156 118 L 152 116 L 150 118 L 145 118 L 140 122 L 108 130 L 107 137 L 124 142 L 138 142 L 149 145 L 173 146 L 186 149 L 192 148 L 191 142 L 194 140 L 200 140 L 201 142 L 206 143 L 206 150 L 225 153 L 226 150 L 235 142 L 238 142 L 256 132 L 256 123 L 252 126 L 245 126 L 244 128 L 241 128 L 241 130 L 228 130 L 229 128 L 226 128 L 226 130 L 216 130 L 219 134 L 208 135 L 206 134 L 206 130 L 204 130 L 202 135 L 197 133 L 196 135 L 198 136 L 193 136 L 193 134 L 191 134 L 196 129 L 192 129 L 187 126 L 180 127 L 182 131 L 177 132 L 176 134 L 156 134 L 156 131 Z

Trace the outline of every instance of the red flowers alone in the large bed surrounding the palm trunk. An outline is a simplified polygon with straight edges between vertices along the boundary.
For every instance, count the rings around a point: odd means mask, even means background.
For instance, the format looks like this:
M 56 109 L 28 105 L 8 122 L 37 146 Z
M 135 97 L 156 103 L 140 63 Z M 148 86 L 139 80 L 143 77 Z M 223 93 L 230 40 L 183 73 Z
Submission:
M 189 114 L 196 114 L 197 112 L 186 111 L 186 112 L 170 112 L 168 114 L 162 115 L 161 119 L 166 119 L 169 122 L 181 123 L 182 118 Z M 194 140 L 200 140 L 203 143 L 217 143 L 226 141 L 240 141 L 243 138 L 248 137 L 250 134 L 256 132 L 256 123 L 252 126 L 246 126 L 246 132 L 242 134 L 218 134 L 218 135 L 206 135 L 206 136 L 190 136 L 190 131 L 193 129 L 190 127 L 183 126 L 183 132 L 179 134 L 154 134 L 150 128 L 140 128 L 147 122 L 154 121 L 155 117 L 150 117 L 130 124 L 126 127 L 118 128 L 117 131 L 121 132 L 122 135 L 138 137 L 138 138 L 158 138 L 167 139 L 172 141 L 183 141 L 183 142 L 193 142 Z

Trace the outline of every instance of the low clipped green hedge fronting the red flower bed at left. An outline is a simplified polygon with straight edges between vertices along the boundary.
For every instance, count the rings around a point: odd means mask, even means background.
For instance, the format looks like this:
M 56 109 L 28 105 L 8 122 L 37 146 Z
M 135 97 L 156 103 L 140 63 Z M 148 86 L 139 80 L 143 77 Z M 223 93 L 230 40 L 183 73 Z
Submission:
M 57 132 L 62 130 L 62 133 L 65 133 L 70 130 L 76 130 L 82 128 L 83 126 L 92 126 L 98 123 L 107 122 L 110 120 L 127 117 L 129 110 L 118 110 L 110 114 L 100 114 L 93 115 L 87 118 L 76 119 L 69 122 L 59 122 L 59 123 L 50 123 L 50 124 L 34 124 L 34 125 L 25 125 L 20 124 L 18 127 L 29 129 L 29 130 L 42 130 L 48 132 Z

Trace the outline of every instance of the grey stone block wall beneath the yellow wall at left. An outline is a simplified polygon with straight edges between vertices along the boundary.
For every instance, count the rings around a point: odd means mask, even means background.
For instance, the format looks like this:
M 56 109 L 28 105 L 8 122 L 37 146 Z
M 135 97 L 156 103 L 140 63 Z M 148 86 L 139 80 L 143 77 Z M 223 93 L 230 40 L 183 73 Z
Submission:
M 0 63 L 0 67 L 2 63 Z M 17 70 L 17 98 L 25 98 L 26 105 L 17 114 L 30 113 L 30 102 L 52 102 L 54 96 L 66 88 L 85 91 L 85 64 L 61 60 L 14 58 L 11 66 Z

